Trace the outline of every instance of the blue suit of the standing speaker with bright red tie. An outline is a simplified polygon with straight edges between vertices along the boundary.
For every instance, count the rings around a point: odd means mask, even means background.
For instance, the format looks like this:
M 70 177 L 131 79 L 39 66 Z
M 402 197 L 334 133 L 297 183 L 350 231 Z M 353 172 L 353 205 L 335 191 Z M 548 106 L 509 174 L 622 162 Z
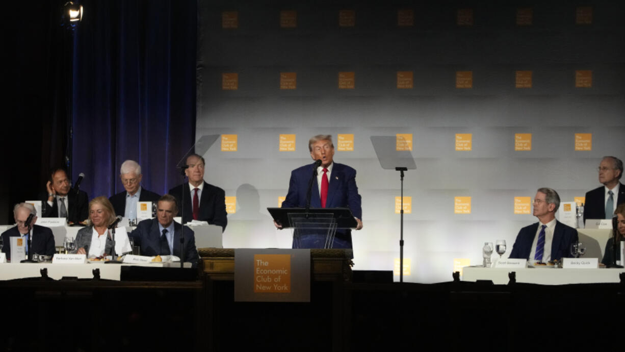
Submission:
M 289 191 L 282 202 L 282 208 L 305 208 L 308 183 L 312 177 L 314 163 L 294 169 L 291 172 Z M 326 208 L 349 208 L 358 219 L 362 219 L 361 197 L 356 186 L 356 170 L 344 164 L 332 164 L 330 182 L 327 188 Z M 321 208 L 317 178 L 312 180 L 311 208 Z M 323 248 L 324 239 L 302 239 L 302 246 Z M 311 245 L 311 246 L 308 246 Z M 332 248 L 352 248 L 351 230 L 337 229 Z

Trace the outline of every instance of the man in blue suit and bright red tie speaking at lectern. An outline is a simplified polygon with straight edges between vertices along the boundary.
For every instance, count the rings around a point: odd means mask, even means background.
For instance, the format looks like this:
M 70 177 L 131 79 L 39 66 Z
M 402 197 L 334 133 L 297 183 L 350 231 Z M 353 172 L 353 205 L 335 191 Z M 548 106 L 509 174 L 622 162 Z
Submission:
M 361 197 L 356 186 L 356 170 L 332 161 L 334 144 L 329 134 L 318 134 L 308 141 L 311 158 L 321 161 L 317 177 L 312 180 L 311 208 L 349 208 L 356 218 L 357 227 L 362 228 Z M 315 163 L 304 165 L 291 172 L 289 191 L 282 202 L 282 208 L 306 208 L 306 193 Z M 277 228 L 280 224 L 274 222 Z M 320 241 L 302 240 L 302 248 L 323 248 Z M 319 245 L 320 244 L 320 245 Z M 337 229 L 332 248 L 352 248 L 351 231 Z

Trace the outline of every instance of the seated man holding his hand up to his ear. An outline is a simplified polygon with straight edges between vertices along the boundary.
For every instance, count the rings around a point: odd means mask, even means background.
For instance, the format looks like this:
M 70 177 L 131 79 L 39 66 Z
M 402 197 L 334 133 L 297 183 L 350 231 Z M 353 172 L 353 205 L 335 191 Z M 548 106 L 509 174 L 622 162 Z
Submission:
M 89 196 L 84 191 L 76 192 L 69 186 L 68 174 L 64 169 L 54 169 L 46 184 L 47 197 L 41 199 L 41 216 L 44 218 L 67 218 L 70 223 L 81 223 L 88 218 Z

